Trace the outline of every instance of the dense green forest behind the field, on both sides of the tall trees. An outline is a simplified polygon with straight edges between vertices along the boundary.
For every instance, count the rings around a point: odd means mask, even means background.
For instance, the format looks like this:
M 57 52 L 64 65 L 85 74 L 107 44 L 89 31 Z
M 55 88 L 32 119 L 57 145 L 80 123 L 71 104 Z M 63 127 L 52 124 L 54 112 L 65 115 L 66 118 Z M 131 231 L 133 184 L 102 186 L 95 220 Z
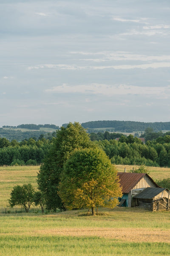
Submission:
M 39 131 L 38 131 L 39 132 Z M 133 135 L 118 133 L 92 133 L 94 143 L 103 148 L 112 163 L 126 165 L 168 166 L 170 167 L 170 132 L 154 132 L 147 128 L 142 134 L 146 143 Z M 18 142 L 0 138 L 0 166 L 40 164 L 53 144 L 56 132 L 40 134 Z M 115 140 L 115 138 L 119 138 Z

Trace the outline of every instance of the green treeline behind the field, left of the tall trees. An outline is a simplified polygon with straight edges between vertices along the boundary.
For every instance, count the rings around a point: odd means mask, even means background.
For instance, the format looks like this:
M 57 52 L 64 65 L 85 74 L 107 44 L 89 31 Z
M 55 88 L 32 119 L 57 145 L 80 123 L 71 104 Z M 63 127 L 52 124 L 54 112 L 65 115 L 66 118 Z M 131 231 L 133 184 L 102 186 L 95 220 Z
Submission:
M 39 165 L 47 154 L 53 140 L 30 138 L 20 143 L 0 138 L 0 166 Z

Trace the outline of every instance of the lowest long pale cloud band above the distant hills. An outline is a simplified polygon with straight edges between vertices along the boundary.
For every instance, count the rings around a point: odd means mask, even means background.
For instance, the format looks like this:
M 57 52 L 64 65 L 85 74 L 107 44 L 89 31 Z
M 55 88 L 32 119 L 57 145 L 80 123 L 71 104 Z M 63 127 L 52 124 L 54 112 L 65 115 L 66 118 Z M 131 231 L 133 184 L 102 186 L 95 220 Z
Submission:
M 47 93 L 91 93 L 91 94 L 102 94 L 105 96 L 115 95 L 147 95 L 147 96 L 167 96 L 170 94 L 169 87 L 138 87 L 126 84 L 80 84 L 70 86 L 63 84 L 61 86 L 52 87 L 51 89 L 45 90 Z

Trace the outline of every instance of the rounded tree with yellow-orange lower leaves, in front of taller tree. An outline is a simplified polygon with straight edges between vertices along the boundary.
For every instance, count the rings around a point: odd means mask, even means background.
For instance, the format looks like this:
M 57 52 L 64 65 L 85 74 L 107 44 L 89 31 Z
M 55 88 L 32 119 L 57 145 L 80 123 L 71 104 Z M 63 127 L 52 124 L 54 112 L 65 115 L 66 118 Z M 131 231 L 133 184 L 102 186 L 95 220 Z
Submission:
M 115 207 L 122 196 L 117 171 L 99 148 L 75 150 L 64 165 L 59 196 L 68 209 Z

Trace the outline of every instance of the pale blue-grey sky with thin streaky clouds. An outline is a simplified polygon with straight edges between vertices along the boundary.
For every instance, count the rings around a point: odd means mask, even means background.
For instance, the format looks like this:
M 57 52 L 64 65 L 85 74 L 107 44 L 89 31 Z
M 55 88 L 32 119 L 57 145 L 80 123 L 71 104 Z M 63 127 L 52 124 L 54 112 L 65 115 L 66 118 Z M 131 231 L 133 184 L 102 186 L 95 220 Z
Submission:
M 170 121 L 169 0 L 0 0 L 0 127 Z

